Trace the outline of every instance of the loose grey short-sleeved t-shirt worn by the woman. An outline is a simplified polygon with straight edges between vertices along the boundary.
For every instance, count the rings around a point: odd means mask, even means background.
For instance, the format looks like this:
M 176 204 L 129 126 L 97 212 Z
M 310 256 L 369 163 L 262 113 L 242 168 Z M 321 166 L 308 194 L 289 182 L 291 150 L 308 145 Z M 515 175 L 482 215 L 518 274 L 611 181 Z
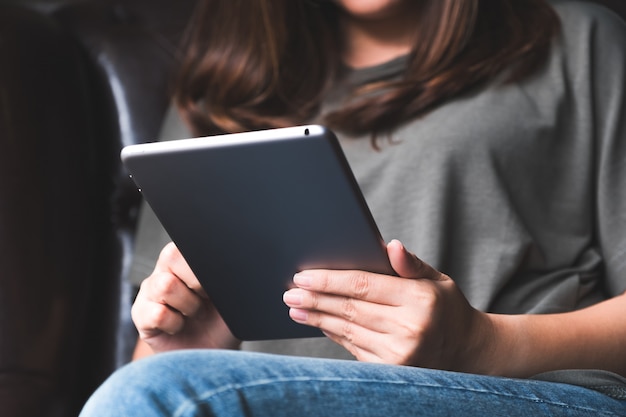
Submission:
M 562 36 L 532 77 L 458 97 L 379 138 L 379 150 L 339 135 L 385 240 L 451 276 L 482 311 L 565 312 L 626 291 L 626 26 L 588 3 L 553 4 Z M 347 82 L 395 77 L 404 62 Z M 163 139 L 186 136 L 170 112 Z M 168 240 L 144 210 L 134 282 Z M 244 349 L 349 357 L 325 339 Z

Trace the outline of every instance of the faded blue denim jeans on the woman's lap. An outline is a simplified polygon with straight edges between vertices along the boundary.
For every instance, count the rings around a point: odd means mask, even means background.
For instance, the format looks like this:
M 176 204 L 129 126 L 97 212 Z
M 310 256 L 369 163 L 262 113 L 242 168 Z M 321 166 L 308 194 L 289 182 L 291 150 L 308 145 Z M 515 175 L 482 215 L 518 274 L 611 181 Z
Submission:
M 187 350 L 120 369 L 81 416 L 625 416 L 567 384 L 250 352 Z

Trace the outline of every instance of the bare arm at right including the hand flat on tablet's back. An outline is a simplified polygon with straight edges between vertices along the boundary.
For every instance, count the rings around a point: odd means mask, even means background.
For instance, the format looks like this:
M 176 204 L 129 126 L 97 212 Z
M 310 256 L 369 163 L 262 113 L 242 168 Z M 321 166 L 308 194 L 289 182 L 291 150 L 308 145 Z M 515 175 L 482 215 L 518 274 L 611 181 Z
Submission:
M 369 362 L 514 377 L 572 368 L 626 374 L 625 296 L 572 313 L 487 314 L 399 242 L 391 242 L 388 253 L 401 278 L 362 271 L 297 274 L 298 288 L 284 297 L 292 319 L 319 327 Z

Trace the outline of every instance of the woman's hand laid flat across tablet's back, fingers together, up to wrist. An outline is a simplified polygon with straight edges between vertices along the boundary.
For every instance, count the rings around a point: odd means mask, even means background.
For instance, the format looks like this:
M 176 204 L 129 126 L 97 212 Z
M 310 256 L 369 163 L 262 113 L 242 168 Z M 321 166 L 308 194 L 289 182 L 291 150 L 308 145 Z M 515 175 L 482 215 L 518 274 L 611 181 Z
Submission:
M 289 315 L 318 327 L 358 360 L 457 371 L 480 370 L 488 346 L 486 314 L 450 277 L 387 245 L 398 277 L 364 271 L 307 270 L 284 295 Z

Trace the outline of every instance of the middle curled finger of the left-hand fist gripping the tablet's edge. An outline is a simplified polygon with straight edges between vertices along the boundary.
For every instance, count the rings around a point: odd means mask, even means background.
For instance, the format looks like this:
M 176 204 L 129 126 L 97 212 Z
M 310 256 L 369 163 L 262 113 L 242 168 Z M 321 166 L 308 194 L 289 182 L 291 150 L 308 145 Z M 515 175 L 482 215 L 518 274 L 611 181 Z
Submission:
M 204 302 L 198 293 L 171 273 L 155 273 L 144 280 L 141 287 L 142 295 L 148 300 L 167 305 L 187 317 L 193 317 Z

